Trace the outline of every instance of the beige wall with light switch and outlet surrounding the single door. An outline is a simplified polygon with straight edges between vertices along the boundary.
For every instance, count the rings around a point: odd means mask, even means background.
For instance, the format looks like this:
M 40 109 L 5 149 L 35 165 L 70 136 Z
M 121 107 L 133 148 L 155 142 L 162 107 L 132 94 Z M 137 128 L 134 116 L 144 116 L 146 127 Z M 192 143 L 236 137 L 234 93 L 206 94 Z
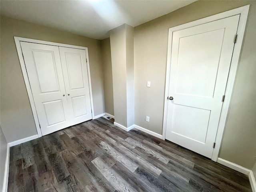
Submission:
M 256 1 L 196 1 L 134 28 L 135 124 L 162 134 L 168 29 L 247 4 L 250 11 L 220 157 L 251 169 L 256 155 Z

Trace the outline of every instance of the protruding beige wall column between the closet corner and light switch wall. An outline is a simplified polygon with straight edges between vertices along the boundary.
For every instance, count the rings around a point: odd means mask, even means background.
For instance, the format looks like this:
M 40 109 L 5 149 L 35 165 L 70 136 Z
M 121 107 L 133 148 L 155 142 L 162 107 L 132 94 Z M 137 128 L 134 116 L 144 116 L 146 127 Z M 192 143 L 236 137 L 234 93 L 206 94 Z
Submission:
M 123 24 L 110 31 L 115 122 L 134 125 L 134 28 Z

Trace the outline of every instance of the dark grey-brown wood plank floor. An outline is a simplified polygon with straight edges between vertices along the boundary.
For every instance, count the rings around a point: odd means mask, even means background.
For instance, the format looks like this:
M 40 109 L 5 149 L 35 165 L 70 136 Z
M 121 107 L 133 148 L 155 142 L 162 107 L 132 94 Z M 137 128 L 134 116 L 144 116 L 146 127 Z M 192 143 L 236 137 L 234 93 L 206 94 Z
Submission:
M 248 176 L 111 120 L 10 148 L 8 192 L 251 192 Z

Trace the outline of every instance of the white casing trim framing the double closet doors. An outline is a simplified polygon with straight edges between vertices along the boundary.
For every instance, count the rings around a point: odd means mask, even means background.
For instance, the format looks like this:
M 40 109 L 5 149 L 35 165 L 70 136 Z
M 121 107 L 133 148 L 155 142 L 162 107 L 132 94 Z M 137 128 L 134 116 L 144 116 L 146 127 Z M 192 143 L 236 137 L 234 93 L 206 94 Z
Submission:
M 89 90 L 90 90 L 90 102 L 91 102 L 91 108 L 92 108 L 92 119 L 94 119 L 94 107 L 93 107 L 93 100 L 92 100 L 92 82 L 91 82 L 90 64 L 89 64 L 89 56 L 88 56 L 88 48 L 87 47 L 55 43 L 55 42 L 48 42 L 48 41 L 42 41 L 42 40 L 35 40 L 35 39 L 16 37 L 16 36 L 14 36 L 14 41 L 16 44 L 18 58 L 20 60 L 20 67 L 21 67 L 22 75 L 23 75 L 24 82 L 26 85 L 26 90 L 28 92 L 28 99 L 29 99 L 30 106 L 32 109 L 33 118 L 34 118 L 34 121 L 36 124 L 36 131 L 37 131 L 38 137 L 42 137 L 42 132 L 41 132 L 40 125 L 39 125 L 39 120 L 38 120 L 38 116 L 37 116 L 37 112 L 36 112 L 36 106 L 34 103 L 32 90 L 31 90 L 30 83 L 28 80 L 28 74 L 27 74 L 25 62 L 23 59 L 20 42 L 29 42 L 29 43 L 37 43 L 37 44 L 45 44 L 45 45 L 52 45 L 52 46 L 58 46 L 58 47 L 67 47 L 67 48 L 75 48 L 75 49 L 85 50 L 86 59 L 87 59 L 86 66 L 87 66 L 87 70 L 88 70 L 88 81 L 89 81 Z

